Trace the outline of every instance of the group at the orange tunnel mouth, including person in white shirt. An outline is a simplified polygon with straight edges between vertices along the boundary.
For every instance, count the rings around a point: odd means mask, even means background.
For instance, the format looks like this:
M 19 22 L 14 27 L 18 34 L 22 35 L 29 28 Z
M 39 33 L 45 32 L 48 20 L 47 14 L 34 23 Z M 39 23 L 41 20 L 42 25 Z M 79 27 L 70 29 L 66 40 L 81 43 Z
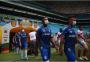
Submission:
M 28 41 L 28 38 L 30 42 Z M 33 53 L 38 56 L 38 49 L 36 46 L 36 31 L 26 33 L 24 29 L 15 33 L 13 37 L 14 50 L 17 54 L 21 55 L 21 59 L 28 60 L 27 54 Z

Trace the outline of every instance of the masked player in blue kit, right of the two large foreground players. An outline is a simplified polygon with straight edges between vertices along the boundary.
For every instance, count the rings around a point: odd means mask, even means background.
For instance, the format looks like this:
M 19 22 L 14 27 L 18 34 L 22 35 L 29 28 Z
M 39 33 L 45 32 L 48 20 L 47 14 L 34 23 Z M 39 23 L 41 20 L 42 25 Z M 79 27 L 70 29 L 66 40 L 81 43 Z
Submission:
M 77 35 L 73 29 L 76 24 L 76 18 L 71 16 L 68 18 L 68 27 L 64 29 L 64 52 L 67 57 L 67 61 L 75 62 L 75 44 L 77 42 Z

